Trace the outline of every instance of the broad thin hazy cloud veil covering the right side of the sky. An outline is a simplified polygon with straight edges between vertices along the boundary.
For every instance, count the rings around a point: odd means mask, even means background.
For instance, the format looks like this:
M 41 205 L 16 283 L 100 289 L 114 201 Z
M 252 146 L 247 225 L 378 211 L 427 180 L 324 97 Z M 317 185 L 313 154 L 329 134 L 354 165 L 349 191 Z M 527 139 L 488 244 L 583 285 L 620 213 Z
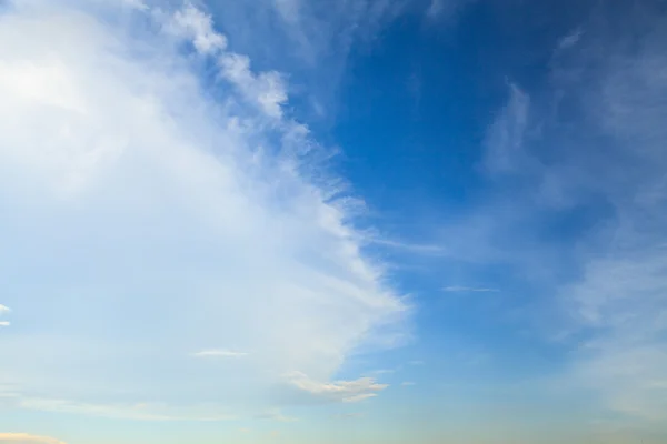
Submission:
M 667 412 L 666 23 L 650 2 L 599 6 L 558 43 L 548 90 L 510 84 L 487 139 L 496 189 L 476 215 L 506 240 L 489 262 L 545 294 L 549 315 L 532 322 L 569 332 L 573 391 L 654 426 Z

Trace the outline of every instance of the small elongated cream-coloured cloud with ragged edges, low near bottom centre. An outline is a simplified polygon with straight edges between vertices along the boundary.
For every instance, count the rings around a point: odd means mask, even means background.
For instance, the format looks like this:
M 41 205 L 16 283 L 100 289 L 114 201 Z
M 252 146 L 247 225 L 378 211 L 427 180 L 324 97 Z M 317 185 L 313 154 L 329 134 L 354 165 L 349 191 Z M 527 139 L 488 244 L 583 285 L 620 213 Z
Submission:
M 322 383 L 313 381 L 306 374 L 293 372 L 287 375 L 291 385 L 317 398 L 331 402 L 359 402 L 377 396 L 387 389 L 387 384 L 378 384 L 372 377 L 360 377 L 355 381 L 337 381 Z

